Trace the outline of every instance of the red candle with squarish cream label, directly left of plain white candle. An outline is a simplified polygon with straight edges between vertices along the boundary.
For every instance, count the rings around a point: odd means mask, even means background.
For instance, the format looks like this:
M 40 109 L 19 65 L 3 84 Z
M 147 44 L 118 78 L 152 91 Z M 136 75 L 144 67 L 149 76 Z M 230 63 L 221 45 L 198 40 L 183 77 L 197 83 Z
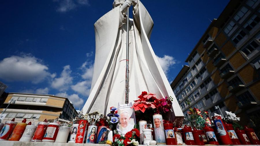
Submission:
M 57 134 L 58 134 L 59 126 L 60 126 L 60 124 L 58 124 L 58 123 L 49 123 L 42 141 L 54 142 L 57 137 Z M 67 138 L 68 138 L 68 136 L 67 136 Z

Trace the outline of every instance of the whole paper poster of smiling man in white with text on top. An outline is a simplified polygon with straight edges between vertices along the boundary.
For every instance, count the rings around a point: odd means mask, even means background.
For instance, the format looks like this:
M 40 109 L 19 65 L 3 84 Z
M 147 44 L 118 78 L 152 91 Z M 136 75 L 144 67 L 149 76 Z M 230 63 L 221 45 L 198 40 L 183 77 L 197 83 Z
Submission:
M 135 113 L 131 109 L 132 103 L 119 105 L 118 104 L 118 113 L 119 113 L 119 122 L 116 126 L 116 130 L 120 134 L 126 134 L 131 131 L 135 126 Z

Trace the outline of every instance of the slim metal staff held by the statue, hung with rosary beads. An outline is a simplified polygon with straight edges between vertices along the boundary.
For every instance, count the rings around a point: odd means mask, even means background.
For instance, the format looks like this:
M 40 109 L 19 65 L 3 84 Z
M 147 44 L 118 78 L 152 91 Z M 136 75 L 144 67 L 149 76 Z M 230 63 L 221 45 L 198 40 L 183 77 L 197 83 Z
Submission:
M 127 50 L 125 69 L 125 103 L 129 103 L 129 7 L 127 7 Z

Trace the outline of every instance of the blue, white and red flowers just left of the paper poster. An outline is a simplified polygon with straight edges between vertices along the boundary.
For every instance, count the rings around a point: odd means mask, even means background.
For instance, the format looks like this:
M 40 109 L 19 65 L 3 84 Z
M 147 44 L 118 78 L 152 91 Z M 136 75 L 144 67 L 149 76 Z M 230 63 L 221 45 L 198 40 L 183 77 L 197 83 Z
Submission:
M 118 123 L 119 114 L 117 114 L 116 107 L 110 107 L 110 113 L 107 114 L 107 122 L 112 131 L 116 130 L 116 125 Z

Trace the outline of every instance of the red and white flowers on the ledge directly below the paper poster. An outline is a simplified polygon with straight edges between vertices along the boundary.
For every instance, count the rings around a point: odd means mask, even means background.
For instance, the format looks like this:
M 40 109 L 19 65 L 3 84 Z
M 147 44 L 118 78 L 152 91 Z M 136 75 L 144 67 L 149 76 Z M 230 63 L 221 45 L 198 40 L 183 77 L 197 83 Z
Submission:
M 131 131 L 127 132 L 125 136 L 114 134 L 113 141 L 113 146 L 139 145 L 138 141 L 140 141 L 140 132 L 138 129 L 134 128 Z

